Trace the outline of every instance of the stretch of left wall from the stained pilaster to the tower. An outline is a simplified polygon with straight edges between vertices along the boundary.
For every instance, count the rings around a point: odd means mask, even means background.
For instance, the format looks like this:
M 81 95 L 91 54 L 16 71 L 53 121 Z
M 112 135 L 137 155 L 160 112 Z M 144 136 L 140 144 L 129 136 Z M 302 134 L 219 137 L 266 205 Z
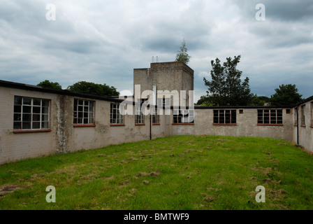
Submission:
M 101 148 L 110 144 L 150 139 L 150 116 L 145 116 L 145 125 L 135 125 L 135 116 L 127 115 L 124 116 L 124 126 L 111 126 L 110 102 L 96 101 L 95 105 L 96 127 L 68 127 L 71 130 L 68 150 Z M 165 137 L 164 125 L 152 125 L 152 138 Z

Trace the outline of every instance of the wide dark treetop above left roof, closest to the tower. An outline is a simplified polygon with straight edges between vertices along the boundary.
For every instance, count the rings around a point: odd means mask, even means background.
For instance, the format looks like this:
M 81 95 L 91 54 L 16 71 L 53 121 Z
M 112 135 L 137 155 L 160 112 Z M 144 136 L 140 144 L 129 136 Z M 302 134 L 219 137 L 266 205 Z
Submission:
M 67 87 L 72 92 L 80 92 L 84 94 L 93 94 L 97 96 L 118 96 L 116 88 L 106 84 L 89 83 L 86 81 L 80 81 Z

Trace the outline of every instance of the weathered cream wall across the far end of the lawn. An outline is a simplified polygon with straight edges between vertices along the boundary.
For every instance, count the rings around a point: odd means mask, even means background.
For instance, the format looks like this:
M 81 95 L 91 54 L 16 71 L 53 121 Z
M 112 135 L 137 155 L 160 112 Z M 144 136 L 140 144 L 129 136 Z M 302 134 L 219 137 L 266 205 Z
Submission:
M 213 125 L 213 109 L 195 109 L 194 125 L 172 125 L 171 135 L 208 134 L 237 137 L 268 137 L 292 141 L 292 115 L 283 109 L 283 126 L 257 125 L 257 109 L 237 109 L 236 125 Z

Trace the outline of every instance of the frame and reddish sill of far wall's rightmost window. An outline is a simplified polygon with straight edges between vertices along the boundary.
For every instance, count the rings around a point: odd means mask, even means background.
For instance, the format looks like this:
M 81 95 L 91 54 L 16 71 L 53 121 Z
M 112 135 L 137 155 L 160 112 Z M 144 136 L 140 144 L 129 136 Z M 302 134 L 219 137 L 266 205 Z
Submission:
M 260 114 L 262 114 L 262 118 L 260 118 Z M 281 116 L 279 116 L 279 114 Z M 257 125 L 264 125 L 264 126 L 283 126 L 284 125 L 283 109 L 258 109 L 257 117 L 258 117 Z M 275 122 L 274 122 L 274 118 L 275 118 Z M 262 121 L 262 123 L 260 123 L 260 121 Z

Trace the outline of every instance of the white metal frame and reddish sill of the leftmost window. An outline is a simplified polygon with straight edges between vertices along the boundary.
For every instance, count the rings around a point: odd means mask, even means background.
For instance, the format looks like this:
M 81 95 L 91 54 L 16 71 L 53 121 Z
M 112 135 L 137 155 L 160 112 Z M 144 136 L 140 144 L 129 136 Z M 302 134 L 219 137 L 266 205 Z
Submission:
M 16 102 L 18 101 L 17 98 L 20 98 L 20 104 L 17 104 Z M 28 100 L 30 99 L 30 102 L 24 103 L 24 99 L 28 99 Z M 35 103 L 35 101 L 37 102 Z M 38 105 L 38 101 L 40 101 L 39 105 Z M 51 101 L 50 99 L 43 99 L 43 98 L 38 98 L 38 97 L 14 96 L 14 103 L 13 103 L 13 130 L 14 132 L 50 131 L 50 101 Z M 25 112 L 26 109 L 29 112 Z M 35 113 L 34 109 L 36 109 L 36 112 L 39 109 L 40 112 Z M 27 119 L 27 121 L 24 121 L 24 119 L 26 119 L 27 117 L 29 117 L 29 119 Z M 17 125 L 17 123 L 20 123 L 20 128 L 15 126 Z M 24 127 L 25 123 L 29 123 L 28 124 L 29 128 Z M 34 127 L 35 124 L 38 124 L 39 127 Z

